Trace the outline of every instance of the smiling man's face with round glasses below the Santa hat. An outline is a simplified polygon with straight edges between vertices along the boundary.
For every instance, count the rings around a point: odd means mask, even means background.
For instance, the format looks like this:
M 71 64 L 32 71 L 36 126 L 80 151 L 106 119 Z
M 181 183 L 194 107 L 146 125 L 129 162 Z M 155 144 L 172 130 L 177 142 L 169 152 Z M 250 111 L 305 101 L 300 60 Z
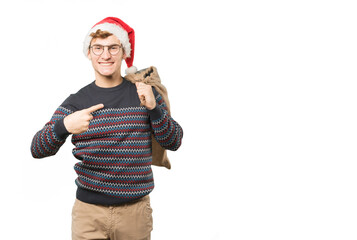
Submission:
M 119 39 L 111 35 L 105 39 L 95 38 L 91 42 L 91 46 L 102 45 L 102 46 L 112 46 L 118 44 L 120 45 Z M 104 77 L 111 77 L 113 75 L 120 75 L 121 62 L 125 58 L 123 53 L 123 48 L 120 49 L 119 53 L 112 55 L 109 52 L 108 47 L 104 48 L 101 55 L 97 56 L 92 52 L 92 49 L 88 52 L 88 58 L 92 61 L 92 65 L 97 74 Z

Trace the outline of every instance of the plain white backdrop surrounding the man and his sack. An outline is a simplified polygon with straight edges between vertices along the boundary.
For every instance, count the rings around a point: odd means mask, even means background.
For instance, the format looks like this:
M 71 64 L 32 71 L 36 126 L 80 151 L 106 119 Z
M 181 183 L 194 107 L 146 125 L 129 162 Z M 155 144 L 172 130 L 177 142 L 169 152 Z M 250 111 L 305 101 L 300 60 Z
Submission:
M 94 80 L 82 41 L 107 16 L 135 29 L 134 65 L 158 68 L 184 129 L 172 170 L 154 167 L 152 239 L 357 239 L 356 12 L 343 0 L 1 3 L 0 239 L 70 239 L 73 145 L 33 159 L 30 144 Z

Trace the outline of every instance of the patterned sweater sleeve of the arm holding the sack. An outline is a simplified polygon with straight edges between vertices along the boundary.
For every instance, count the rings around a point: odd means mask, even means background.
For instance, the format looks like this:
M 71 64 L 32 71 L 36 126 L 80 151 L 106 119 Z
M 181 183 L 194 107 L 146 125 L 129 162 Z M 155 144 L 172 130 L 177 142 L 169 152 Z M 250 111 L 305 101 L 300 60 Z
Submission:
M 156 93 L 155 96 L 156 107 L 149 110 L 154 137 L 163 148 L 176 151 L 181 146 L 183 130 L 169 115 L 161 95 Z

